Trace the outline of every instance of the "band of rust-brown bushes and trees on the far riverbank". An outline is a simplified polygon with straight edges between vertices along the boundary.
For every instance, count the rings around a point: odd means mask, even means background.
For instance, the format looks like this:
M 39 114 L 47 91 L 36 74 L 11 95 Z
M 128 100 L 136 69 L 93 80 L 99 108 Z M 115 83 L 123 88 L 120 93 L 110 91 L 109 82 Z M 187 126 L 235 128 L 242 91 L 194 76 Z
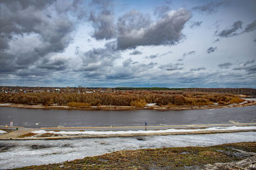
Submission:
M 78 94 L 78 93 L 1 93 L 0 103 L 15 104 L 43 104 L 49 106 L 51 104 L 58 105 L 76 105 L 84 106 L 142 106 L 146 103 L 156 103 L 163 105 L 188 105 L 202 106 L 207 104 L 232 104 L 241 103 L 243 99 L 239 99 L 232 94 L 218 94 L 209 92 L 186 92 L 181 90 L 173 91 L 145 91 L 134 90 L 124 92 Z M 70 105 L 70 106 L 71 106 Z

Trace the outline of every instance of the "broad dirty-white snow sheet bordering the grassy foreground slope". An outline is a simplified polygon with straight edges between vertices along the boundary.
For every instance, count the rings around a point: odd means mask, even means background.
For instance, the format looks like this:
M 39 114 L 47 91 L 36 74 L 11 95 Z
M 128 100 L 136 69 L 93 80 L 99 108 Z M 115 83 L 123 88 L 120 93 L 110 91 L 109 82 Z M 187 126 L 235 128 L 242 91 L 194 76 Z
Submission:
M 131 138 L 83 138 L 61 140 L 0 141 L 1 169 L 43 165 L 83 159 L 118 150 L 144 148 L 211 146 L 256 141 L 256 132 L 190 134 Z

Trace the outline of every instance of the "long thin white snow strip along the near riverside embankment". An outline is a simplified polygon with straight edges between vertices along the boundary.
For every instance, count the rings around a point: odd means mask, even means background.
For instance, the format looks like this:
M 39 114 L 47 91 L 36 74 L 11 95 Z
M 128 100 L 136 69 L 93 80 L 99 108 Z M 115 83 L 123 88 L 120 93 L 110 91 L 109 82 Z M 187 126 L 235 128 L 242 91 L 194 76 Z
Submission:
M 196 131 L 220 131 L 220 130 L 254 130 L 256 126 L 245 127 L 208 127 L 206 129 L 166 129 L 159 131 L 32 131 L 34 134 L 148 134 L 148 133 L 163 133 L 163 132 L 196 132 Z

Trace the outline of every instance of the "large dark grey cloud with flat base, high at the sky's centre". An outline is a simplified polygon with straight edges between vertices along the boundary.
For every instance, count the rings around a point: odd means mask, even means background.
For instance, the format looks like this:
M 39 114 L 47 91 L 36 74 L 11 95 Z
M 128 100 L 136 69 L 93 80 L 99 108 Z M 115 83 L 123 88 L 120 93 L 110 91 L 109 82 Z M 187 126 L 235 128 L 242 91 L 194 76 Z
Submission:
M 139 11 L 129 11 L 118 18 L 118 48 L 134 48 L 140 45 L 173 45 L 182 38 L 184 24 L 191 13 L 181 8 L 165 13 L 163 17 L 151 23 L 149 15 Z

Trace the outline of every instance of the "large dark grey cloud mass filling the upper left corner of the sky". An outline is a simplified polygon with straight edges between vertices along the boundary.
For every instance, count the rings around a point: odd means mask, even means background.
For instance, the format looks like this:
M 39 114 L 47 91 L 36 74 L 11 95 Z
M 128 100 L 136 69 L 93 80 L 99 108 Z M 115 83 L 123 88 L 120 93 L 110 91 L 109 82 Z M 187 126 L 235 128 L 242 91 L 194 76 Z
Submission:
M 68 2 L 57 5 L 60 1 L 0 1 L 1 13 L 4 13 L 0 17 L 0 71 L 12 73 L 28 69 L 45 56 L 67 48 L 76 21 L 72 11 L 79 11 L 72 5 L 74 1 Z M 52 15 L 52 10 L 56 15 Z M 19 46 L 10 46 L 15 42 Z

